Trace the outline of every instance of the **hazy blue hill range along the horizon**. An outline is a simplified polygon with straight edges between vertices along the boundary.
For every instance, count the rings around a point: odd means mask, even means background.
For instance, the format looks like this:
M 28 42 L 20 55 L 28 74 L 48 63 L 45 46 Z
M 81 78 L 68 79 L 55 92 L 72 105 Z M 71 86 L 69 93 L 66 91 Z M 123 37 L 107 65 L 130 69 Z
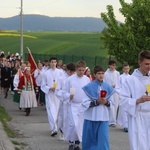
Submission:
M 30 31 L 99 32 L 106 27 L 100 18 L 23 15 L 23 28 Z M 20 16 L 0 18 L 0 30 L 20 30 Z

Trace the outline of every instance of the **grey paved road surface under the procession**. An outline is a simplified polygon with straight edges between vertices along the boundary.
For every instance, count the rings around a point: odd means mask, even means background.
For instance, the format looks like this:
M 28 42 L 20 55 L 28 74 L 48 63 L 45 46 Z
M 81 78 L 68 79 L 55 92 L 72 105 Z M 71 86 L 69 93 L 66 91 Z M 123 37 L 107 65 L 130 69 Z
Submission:
M 13 118 L 9 122 L 11 128 L 19 133 L 17 138 L 11 140 L 27 144 L 21 150 L 68 150 L 68 143 L 60 141 L 59 135 L 50 136 L 45 106 L 33 108 L 27 117 L 24 111 L 18 109 L 18 104 L 12 101 L 10 93 L 7 99 L 1 94 L 0 103 Z M 129 150 L 128 133 L 124 133 L 119 127 L 109 129 L 111 150 Z

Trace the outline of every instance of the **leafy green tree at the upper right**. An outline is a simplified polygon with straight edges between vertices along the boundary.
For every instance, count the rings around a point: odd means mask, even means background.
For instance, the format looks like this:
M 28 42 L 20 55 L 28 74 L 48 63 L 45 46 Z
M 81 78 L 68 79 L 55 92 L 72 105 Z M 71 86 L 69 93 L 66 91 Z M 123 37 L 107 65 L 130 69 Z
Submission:
M 111 5 L 107 6 L 107 13 L 101 13 L 101 18 L 108 28 L 101 33 L 108 54 L 119 62 L 137 64 L 138 53 L 150 50 L 150 1 L 132 0 L 126 3 L 119 0 L 120 13 L 125 18 L 124 23 L 118 22 Z

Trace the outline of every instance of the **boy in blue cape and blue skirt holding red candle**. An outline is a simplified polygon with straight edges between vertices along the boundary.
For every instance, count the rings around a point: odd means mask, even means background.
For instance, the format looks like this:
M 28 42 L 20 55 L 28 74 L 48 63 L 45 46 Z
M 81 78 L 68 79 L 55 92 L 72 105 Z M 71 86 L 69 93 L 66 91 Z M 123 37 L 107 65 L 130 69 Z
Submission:
M 82 150 L 109 150 L 109 108 L 114 89 L 103 82 L 104 69 L 94 67 L 95 80 L 83 87 Z

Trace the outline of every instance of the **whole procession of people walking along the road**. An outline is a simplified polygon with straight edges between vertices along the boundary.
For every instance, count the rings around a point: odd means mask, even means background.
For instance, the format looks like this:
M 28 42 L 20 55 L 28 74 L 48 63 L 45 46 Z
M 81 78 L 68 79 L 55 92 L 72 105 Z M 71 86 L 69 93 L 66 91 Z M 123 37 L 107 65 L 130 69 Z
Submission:
M 6 57 L 1 52 L 0 59 L 4 98 L 10 89 L 26 116 L 45 105 L 51 136 L 59 133 L 68 150 L 80 150 L 80 143 L 83 150 L 109 150 L 109 127 L 116 125 L 129 132 L 131 150 L 149 149 L 150 51 L 139 53 L 139 68 L 131 75 L 128 64 L 120 75 L 115 60 L 106 71 L 100 65 L 91 71 L 83 60 L 64 64 L 51 57 L 39 61 L 31 74 L 18 53 Z

